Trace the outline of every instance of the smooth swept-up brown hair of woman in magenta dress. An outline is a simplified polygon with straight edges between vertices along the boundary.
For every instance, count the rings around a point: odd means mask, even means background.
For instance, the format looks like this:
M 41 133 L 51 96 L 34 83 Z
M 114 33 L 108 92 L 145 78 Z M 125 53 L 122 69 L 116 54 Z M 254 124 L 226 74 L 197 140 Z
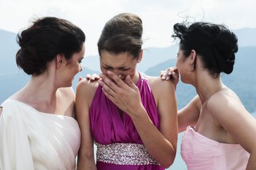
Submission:
M 138 58 L 142 50 L 142 20 L 134 14 L 119 14 L 105 24 L 98 41 L 98 52 L 129 52 Z

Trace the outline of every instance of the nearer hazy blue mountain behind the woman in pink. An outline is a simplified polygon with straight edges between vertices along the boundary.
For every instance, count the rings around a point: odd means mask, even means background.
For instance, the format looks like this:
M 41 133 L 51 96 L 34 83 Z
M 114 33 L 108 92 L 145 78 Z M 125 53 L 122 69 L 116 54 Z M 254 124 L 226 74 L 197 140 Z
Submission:
M 236 55 L 234 70 L 230 75 L 222 74 L 222 81 L 226 86 L 234 90 L 240 97 L 248 111 L 256 111 L 256 47 L 240 47 Z M 158 76 L 161 70 L 175 66 L 176 59 L 157 64 L 149 68 L 147 75 Z M 177 86 L 178 107 L 182 108 L 195 96 L 195 89 L 191 85 L 178 83 Z

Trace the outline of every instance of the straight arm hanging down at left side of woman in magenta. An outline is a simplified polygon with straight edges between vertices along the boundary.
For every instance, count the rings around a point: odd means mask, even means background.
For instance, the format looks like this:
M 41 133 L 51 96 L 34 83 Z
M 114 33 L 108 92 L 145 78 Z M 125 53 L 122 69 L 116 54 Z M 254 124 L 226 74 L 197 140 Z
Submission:
M 76 90 L 76 118 L 81 130 L 81 145 L 78 153 L 78 170 L 94 169 L 94 148 L 91 125 L 89 120 L 89 105 L 92 100 L 92 84 L 88 80 L 81 80 Z

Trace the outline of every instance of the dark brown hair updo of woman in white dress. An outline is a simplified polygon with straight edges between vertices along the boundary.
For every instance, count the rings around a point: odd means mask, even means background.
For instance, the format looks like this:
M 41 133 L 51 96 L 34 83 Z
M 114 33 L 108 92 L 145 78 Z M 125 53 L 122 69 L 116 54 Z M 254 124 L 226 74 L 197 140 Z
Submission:
M 43 17 L 17 35 L 21 47 L 16 53 L 16 63 L 28 75 L 41 75 L 48 62 L 63 54 L 69 60 L 80 52 L 85 34 L 78 26 L 65 19 Z

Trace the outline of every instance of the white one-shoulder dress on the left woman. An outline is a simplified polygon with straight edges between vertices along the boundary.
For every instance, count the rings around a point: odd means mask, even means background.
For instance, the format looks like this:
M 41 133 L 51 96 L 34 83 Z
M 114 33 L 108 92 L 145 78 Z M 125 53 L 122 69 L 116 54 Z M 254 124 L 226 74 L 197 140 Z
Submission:
M 80 128 L 74 118 L 42 113 L 13 99 L 1 107 L 1 170 L 76 168 Z

